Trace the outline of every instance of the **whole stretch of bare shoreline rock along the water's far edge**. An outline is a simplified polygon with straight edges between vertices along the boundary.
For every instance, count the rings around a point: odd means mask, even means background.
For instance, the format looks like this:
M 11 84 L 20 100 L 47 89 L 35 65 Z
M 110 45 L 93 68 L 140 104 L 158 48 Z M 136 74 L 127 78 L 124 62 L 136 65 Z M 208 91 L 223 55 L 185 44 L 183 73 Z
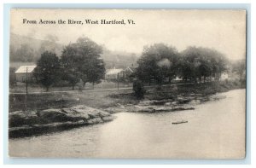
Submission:
M 144 100 L 138 104 L 116 104 L 116 107 L 96 109 L 79 105 L 66 108 L 50 108 L 39 111 L 15 111 L 9 113 L 9 137 L 37 136 L 60 130 L 70 130 L 83 125 L 96 125 L 114 119 L 112 113 L 169 113 L 194 110 L 205 101 L 218 101 L 225 96 L 178 95 L 165 100 Z

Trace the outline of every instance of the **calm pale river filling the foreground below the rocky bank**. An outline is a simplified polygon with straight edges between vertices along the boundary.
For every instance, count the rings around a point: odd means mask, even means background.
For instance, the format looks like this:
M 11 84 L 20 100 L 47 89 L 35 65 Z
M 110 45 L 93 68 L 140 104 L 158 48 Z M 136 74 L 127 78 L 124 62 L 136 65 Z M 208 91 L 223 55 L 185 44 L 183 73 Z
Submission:
M 242 158 L 245 154 L 245 92 L 172 113 L 116 113 L 117 119 L 9 140 L 15 157 L 79 158 Z M 188 123 L 172 125 L 186 120 Z

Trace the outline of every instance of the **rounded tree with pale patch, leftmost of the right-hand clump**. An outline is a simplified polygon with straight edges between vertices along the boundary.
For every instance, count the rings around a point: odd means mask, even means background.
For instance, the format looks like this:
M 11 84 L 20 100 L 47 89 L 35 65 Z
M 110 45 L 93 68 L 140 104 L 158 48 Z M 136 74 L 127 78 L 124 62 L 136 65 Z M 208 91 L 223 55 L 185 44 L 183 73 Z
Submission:
M 177 74 L 177 49 L 164 43 L 155 43 L 144 47 L 142 57 L 137 61 L 137 77 L 143 82 L 154 79 L 162 84 L 166 78 L 169 82 Z

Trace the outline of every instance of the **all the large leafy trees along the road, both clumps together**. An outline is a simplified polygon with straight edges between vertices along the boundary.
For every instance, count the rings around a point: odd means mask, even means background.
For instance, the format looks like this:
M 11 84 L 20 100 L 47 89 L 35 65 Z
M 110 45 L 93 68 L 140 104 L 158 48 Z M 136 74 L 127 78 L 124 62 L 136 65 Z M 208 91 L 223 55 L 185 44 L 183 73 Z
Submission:
M 46 90 L 58 81 L 67 81 L 73 88 L 79 82 L 99 84 L 105 75 L 105 63 L 101 58 L 102 46 L 90 40 L 79 38 L 69 43 L 58 58 L 55 53 L 45 51 L 38 60 L 33 75 Z M 178 52 L 173 46 L 154 43 L 145 46 L 137 60 L 137 72 L 131 78 L 142 83 L 171 83 L 173 78 L 189 81 L 206 81 L 207 78 L 219 80 L 221 74 L 233 67 L 233 72 L 242 76 L 245 61 L 231 65 L 224 54 L 216 49 L 188 47 Z M 131 80 L 130 80 L 131 81 Z M 140 84 L 135 84 L 140 85 Z

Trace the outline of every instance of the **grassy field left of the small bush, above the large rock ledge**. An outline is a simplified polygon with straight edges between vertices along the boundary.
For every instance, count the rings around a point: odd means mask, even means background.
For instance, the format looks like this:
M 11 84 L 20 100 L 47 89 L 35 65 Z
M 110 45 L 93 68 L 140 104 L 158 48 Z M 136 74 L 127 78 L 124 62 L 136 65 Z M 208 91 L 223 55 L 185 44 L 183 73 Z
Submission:
M 9 111 L 41 110 L 47 108 L 73 107 L 83 104 L 90 107 L 112 107 L 117 103 L 135 103 L 131 90 L 103 90 L 90 92 L 66 92 L 26 95 L 9 95 Z M 110 95 L 125 94 L 123 98 L 111 98 Z M 26 103 L 27 102 L 27 103 Z

